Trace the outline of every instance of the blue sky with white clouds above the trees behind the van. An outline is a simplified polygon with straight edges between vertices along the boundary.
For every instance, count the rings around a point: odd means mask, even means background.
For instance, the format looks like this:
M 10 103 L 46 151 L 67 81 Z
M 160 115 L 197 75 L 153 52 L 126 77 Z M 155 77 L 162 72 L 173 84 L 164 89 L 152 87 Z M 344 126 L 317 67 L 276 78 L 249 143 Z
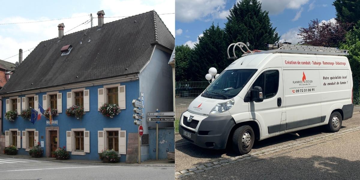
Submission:
M 176 0 L 175 1 L 175 44 L 194 47 L 198 36 L 211 23 L 225 27 L 229 9 L 237 0 Z M 308 27 L 312 19 L 336 22 L 332 0 L 260 0 L 262 10 L 269 12 L 270 22 L 279 33 L 281 41 L 297 44 L 298 29 Z

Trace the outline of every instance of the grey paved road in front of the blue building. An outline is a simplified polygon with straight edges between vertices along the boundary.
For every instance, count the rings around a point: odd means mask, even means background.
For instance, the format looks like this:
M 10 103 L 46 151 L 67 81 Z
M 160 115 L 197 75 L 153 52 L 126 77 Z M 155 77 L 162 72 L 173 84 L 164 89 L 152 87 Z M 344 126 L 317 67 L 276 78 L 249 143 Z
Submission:
M 0 180 L 174 179 L 174 167 L 110 166 L 50 162 L 0 156 Z

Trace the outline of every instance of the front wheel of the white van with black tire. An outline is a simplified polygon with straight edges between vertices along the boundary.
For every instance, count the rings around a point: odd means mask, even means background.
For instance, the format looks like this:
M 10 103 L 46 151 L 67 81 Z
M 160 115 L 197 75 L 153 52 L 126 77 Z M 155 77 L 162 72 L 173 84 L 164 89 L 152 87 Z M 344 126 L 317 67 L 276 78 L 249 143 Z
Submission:
M 240 126 L 233 134 L 233 150 L 240 155 L 247 154 L 252 149 L 254 141 L 255 134 L 251 126 Z

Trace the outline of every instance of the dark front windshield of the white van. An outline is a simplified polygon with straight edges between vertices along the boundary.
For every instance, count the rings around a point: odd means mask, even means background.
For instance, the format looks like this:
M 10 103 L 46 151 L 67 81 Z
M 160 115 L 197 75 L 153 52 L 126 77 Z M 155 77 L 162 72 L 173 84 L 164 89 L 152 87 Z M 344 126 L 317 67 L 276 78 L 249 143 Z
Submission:
M 257 69 L 229 69 L 223 71 L 201 95 L 212 99 L 230 99 L 239 94 Z

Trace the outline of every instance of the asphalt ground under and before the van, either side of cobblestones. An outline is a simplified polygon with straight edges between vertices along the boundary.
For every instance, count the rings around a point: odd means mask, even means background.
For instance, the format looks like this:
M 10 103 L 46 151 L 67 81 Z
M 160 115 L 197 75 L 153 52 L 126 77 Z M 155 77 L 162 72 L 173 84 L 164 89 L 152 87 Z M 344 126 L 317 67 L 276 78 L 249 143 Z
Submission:
M 360 114 L 354 114 L 353 118 L 343 122 L 341 131 L 358 126 L 360 126 Z M 229 179 L 240 179 L 242 177 L 246 177 L 246 179 L 319 179 L 320 177 L 333 179 L 333 176 L 330 176 L 330 174 L 338 175 L 339 179 L 343 179 L 342 177 L 351 179 L 356 176 L 357 179 L 360 179 L 359 170 L 358 168 L 355 169 L 356 166 L 360 167 L 360 131 L 343 134 L 339 138 L 334 139 L 331 139 L 333 134 L 328 133 L 322 127 L 298 131 L 298 134 L 300 137 L 285 134 L 258 141 L 250 153 L 282 145 L 286 146 L 289 143 L 295 144 L 309 138 L 316 139 L 325 135 L 327 138 L 326 141 L 316 141 L 318 144 L 315 145 L 302 145 L 297 150 L 294 150 L 294 148 L 283 150 L 281 151 L 283 154 L 281 156 L 276 155 L 280 152 L 265 154 L 265 156 L 256 159 L 248 159 L 244 162 L 235 161 L 233 164 L 185 176 L 181 179 L 200 179 L 200 177 L 202 179 L 221 179 L 223 177 L 229 177 Z M 177 138 L 176 142 L 178 141 L 181 140 Z M 192 144 L 177 147 L 176 171 L 198 167 L 215 161 L 221 162 L 224 159 L 236 156 L 237 154 L 233 154 L 230 150 L 209 150 Z M 341 171 L 341 169 L 346 170 Z M 352 171 L 356 171 L 357 174 Z M 298 175 L 295 176 L 297 172 Z M 322 172 L 321 176 L 316 178 L 310 176 L 318 172 Z M 339 176 L 340 174 L 345 175 Z

